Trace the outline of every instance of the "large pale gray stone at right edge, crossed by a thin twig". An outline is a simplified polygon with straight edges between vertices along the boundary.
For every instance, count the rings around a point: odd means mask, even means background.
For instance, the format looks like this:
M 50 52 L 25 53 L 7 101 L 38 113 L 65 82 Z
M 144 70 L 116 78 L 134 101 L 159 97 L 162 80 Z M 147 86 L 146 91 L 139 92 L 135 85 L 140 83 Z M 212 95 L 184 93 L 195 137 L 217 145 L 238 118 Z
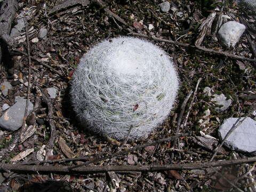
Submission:
M 240 121 L 243 118 L 241 118 Z M 226 137 L 226 134 L 233 125 L 238 123 L 238 119 L 239 118 L 228 118 L 223 122 L 219 129 L 219 136 L 222 140 Z M 238 150 L 246 153 L 256 151 L 255 130 L 256 121 L 247 117 L 243 123 L 230 134 L 224 145 L 232 150 Z

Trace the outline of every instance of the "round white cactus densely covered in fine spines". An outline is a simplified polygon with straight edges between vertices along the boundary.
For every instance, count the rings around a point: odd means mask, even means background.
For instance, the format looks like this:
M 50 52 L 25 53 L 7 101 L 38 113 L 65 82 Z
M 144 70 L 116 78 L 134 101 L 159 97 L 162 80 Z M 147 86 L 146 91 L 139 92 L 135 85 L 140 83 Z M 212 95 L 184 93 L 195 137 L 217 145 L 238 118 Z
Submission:
M 71 100 L 82 124 L 118 140 L 146 137 L 173 107 L 179 80 L 156 45 L 113 38 L 85 53 L 73 74 Z

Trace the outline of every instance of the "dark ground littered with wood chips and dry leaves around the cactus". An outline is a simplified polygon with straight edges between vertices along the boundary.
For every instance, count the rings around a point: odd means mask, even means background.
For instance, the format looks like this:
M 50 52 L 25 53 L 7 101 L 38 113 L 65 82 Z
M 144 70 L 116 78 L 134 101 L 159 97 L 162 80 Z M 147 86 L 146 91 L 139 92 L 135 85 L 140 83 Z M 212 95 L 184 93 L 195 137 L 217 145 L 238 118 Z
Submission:
M 0 158 L 1 163 L 13 164 L 14 168 L 4 169 L 9 172 L 0 176 L 0 189 L 57 191 L 62 187 L 63 191 L 70 191 L 71 186 L 77 191 L 256 191 L 255 164 L 236 163 L 255 155 L 251 153 L 255 151 L 253 131 L 239 136 L 239 141 L 242 144 L 246 141 L 250 150 L 237 151 L 234 150 L 237 146 L 230 149 L 227 147 L 230 145 L 224 145 L 214 154 L 221 143 L 218 130 L 225 119 L 249 116 L 252 124 L 244 127 L 255 128 L 256 55 L 255 47 L 252 48 L 255 46 L 255 10 L 233 1 L 212 4 L 211 1 L 175 0 L 161 4 L 158 0 L 115 0 L 107 1 L 106 5 L 97 1 L 77 2 L 63 9 L 62 1 L 58 0 L 18 3 L 11 33 L 18 42 L 17 49 L 12 50 L 14 67 L 5 63 L 0 69 L 0 126 L 5 127 L 0 132 Z M 215 21 L 218 18 L 225 22 L 238 21 L 246 30 L 235 47 L 227 48 L 217 41 L 214 21 L 200 45 L 207 50 L 200 50 L 194 46 L 198 43 L 199 27 L 217 7 Z M 175 108 L 165 123 L 147 139 L 127 142 L 81 129 L 68 94 L 79 58 L 102 39 L 123 35 L 147 37 L 162 47 L 173 57 L 181 84 Z M 25 123 L 26 105 L 29 116 Z M 7 115 L 6 110 L 9 110 Z M 7 124 L 6 118 L 10 118 Z M 159 141 L 177 132 L 180 133 L 178 142 Z M 150 145 L 154 141 L 159 142 Z M 147 143 L 146 147 L 127 151 Z M 118 156 L 99 159 L 120 151 Z M 44 159 L 49 160 L 39 162 Z M 182 166 L 178 166 L 179 169 L 171 170 L 131 171 L 126 167 L 126 171 L 93 172 L 93 166 L 167 167 L 227 160 L 234 161 L 227 166 L 212 167 L 211 164 L 204 169 L 194 166 L 182 170 Z M 36 165 L 55 169 L 83 163 L 91 172 L 31 172 L 22 167 Z M 21 170 L 17 171 L 17 167 Z M 48 185 L 44 183 L 46 180 L 51 180 Z M 35 187 L 34 182 L 41 184 Z

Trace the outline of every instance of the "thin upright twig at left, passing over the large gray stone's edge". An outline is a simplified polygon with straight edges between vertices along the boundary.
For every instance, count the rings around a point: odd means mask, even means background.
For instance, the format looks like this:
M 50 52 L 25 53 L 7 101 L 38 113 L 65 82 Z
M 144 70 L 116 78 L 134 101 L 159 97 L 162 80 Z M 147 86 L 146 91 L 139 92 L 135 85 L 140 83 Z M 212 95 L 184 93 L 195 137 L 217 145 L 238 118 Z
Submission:
M 20 142 L 22 138 L 22 133 L 25 132 L 26 129 L 26 118 L 27 118 L 27 113 L 28 113 L 28 102 L 29 102 L 29 95 L 30 95 L 30 76 L 31 76 L 31 58 L 30 58 L 30 45 L 29 45 L 29 38 L 28 38 L 28 25 L 27 25 L 27 20 L 24 19 L 25 23 L 25 29 L 26 29 L 26 39 L 27 39 L 27 50 L 28 50 L 28 91 L 27 91 L 27 101 L 26 101 L 26 108 L 25 108 L 25 113 L 23 117 L 23 122 L 22 122 L 22 127 L 21 127 L 21 132 L 20 132 Z

